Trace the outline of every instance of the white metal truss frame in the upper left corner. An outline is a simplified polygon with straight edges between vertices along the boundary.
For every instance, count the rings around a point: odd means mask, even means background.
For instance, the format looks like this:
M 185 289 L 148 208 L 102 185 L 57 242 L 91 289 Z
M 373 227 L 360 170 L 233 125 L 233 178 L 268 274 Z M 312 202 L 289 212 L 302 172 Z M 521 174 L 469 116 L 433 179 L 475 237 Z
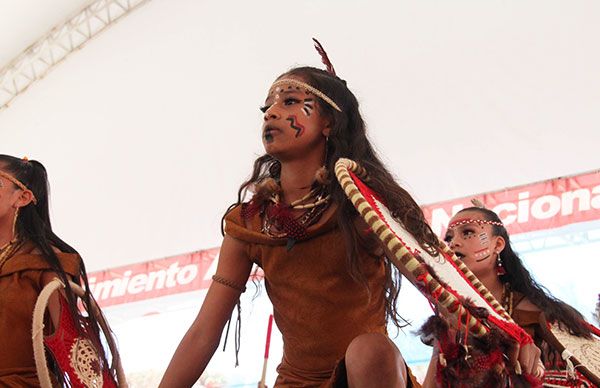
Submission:
M 150 0 L 95 0 L 0 69 L 0 111 L 69 54 Z

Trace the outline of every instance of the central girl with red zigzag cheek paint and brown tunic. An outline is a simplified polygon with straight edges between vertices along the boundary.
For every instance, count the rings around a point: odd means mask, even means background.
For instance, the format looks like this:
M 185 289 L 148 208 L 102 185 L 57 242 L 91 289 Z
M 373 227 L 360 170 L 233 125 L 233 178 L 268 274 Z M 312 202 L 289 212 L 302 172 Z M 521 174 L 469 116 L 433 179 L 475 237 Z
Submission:
M 276 386 L 413 386 L 386 331 L 390 320 L 404 323 L 396 310 L 400 274 L 333 178 L 334 163 L 360 163 L 394 215 L 433 245 L 421 209 L 376 156 L 356 97 L 331 71 L 288 71 L 269 88 L 262 112 L 266 153 L 224 217 L 214 281 L 161 386 L 200 377 L 254 263 L 283 335 Z M 244 203 L 247 190 L 254 195 Z

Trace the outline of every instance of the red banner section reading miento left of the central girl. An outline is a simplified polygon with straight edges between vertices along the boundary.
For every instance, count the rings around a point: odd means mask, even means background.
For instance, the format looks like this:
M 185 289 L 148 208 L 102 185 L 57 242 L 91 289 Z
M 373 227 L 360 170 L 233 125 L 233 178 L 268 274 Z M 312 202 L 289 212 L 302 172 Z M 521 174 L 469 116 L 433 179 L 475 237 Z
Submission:
M 133 264 L 88 276 L 101 307 L 208 288 L 219 248 Z

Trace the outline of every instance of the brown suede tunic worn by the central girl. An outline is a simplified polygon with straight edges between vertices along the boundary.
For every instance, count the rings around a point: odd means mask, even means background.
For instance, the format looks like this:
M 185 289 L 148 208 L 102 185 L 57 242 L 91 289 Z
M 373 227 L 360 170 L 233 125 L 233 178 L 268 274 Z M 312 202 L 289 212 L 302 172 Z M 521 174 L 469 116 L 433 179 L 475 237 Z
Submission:
M 273 315 L 283 335 L 283 360 L 276 385 L 326 385 L 355 337 L 386 333 L 382 257 L 359 247 L 369 294 L 348 274 L 336 213 L 324 217 L 289 251 L 285 238 L 260 232 L 259 215 L 245 222 L 238 206 L 225 219 L 226 234 L 248 243 L 248 257 L 265 274 Z

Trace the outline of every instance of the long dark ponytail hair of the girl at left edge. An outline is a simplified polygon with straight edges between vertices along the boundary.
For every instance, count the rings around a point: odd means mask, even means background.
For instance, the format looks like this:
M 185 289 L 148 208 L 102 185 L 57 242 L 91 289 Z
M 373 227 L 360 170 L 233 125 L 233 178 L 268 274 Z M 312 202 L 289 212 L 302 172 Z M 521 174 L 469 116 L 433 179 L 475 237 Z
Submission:
M 16 233 L 23 241 L 31 242 L 40 252 L 42 258 L 50 265 L 52 270 L 58 275 L 65 285 L 65 294 L 69 302 L 69 309 L 72 316 L 80 321 L 77 326 L 79 334 L 83 334 L 83 327 L 91 329 L 94 338 L 100 338 L 99 324 L 92 313 L 91 293 L 88 284 L 87 272 L 83 260 L 80 261 L 79 274 L 76 279 L 71 279 L 65 272 L 63 266 L 56 255 L 55 249 L 63 253 L 79 253 L 52 231 L 50 223 L 49 197 L 50 185 L 48 183 L 48 174 L 46 168 L 36 160 L 23 160 L 10 155 L 0 154 L 0 167 L 6 172 L 11 173 L 16 179 L 23 183 L 35 196 L 37 203 L 30 202 L 27 206 L 19 209 L 19 217 L 16 224 Z M 85 294 L 82 298 L 89 316 L 83 317 L 77 308 L 77 299 L 69 280 L 74 280 L 82 286 Z M 105 352 L 101 344 L 96 344 L 98 350 L 105 359 Z M 51 365 L 54 372 L 57 372 L 56 365 Z M 57 373 L 59 379 L 62 378 Z

